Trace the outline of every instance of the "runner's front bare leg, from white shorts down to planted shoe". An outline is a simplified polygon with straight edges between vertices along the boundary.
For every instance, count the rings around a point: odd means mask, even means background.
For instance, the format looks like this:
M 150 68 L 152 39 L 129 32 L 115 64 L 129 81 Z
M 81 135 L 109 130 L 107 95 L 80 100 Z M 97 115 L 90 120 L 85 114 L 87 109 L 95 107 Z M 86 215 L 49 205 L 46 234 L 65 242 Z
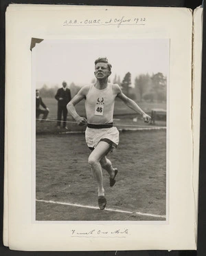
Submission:
M 106 156 L 108 153 L 108 149 L 110 145 L 107 142 L 100 141 L 95 147 L 95 149 L 91 152 L 88 163 L 93 172 L 93 176 L 95 180 L 98 182 L 98 195 L 104 195 L 104 187 L 103 187 L 103 179 L 102 179 L 102 167 L 100 164 L 100 160 Z

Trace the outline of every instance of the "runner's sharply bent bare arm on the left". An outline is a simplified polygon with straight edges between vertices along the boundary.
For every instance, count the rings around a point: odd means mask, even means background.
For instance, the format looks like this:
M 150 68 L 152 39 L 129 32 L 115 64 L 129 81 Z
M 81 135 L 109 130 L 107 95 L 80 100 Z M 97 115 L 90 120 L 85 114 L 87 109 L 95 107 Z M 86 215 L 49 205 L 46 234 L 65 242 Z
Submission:
M 67 110 L 69 111 L 69 114 L 73 116 L 73 118 L 78 122 L 78 125 L 80 126 L 86 125 L 87 119 L 77 114 L 75 105 L 78 104 L 84 98 L 86 98 L 86 95 L 88 92 L 89 92 L 89 86 L 86 85 L 82 87 L 78 92 L 78 94 L 76 94 L 76 96 L 74 96 L 67 104 Z

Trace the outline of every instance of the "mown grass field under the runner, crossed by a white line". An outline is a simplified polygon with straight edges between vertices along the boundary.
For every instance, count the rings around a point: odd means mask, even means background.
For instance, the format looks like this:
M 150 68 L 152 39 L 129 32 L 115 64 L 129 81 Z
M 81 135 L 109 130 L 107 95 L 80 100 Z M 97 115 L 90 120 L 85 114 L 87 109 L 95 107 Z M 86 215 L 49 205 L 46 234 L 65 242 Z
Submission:
M 103 173 L 106 208 L 130 213 L 100 211 L 81 207 L 98 207 L 84 134 L 36 135 L 36 199 L 64 203 L 37 201 L 36 220 L 165 220 L 165 149 L 166 131 L 120 133 L 108 156 L 119 169 L 113 188 Z

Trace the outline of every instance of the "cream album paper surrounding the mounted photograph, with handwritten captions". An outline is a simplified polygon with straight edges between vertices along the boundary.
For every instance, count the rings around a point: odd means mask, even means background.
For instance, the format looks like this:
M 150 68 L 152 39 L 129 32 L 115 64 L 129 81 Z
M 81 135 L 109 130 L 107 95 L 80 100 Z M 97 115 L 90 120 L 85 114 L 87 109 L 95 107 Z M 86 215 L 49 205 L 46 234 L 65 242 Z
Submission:
M 191 10 L 10 5 L 6 12 L 6 31 L 5 123 L 8 205 L 5 204 L 5 210 L 8 207 L 8 215 L 5 211 L 5 245 L 13 250 L 195 250 L 196 201 L 194 198 L 197 198 L 198 184 L 197 178 L 193 179 L 193 177 L 197 177 L 198 168 L 197 163 L 193 162 L 191 118 Z M 44 41 L 76 39 L 170 41 L 167 107 L 168 205 L 165 222 L 36 222 L 34 220 L 33 192 L 36 180 L 32 166 L 35 141 L 32 128 L 34 125 L 32 119 L 34 74 L 30 50 L 32 38 Z M 196 102 L 198 103 L 198 100 Z M 91 231 L 93 231 L 92 235 Z

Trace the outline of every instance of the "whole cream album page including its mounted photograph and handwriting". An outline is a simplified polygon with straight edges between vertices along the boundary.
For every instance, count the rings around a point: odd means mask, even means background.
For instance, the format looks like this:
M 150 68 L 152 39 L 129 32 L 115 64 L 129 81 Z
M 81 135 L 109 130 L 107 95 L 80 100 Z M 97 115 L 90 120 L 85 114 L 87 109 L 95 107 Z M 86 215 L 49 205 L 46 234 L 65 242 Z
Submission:
M 202 8 L 8 6 L 5 246 L 196 250 L 201 43 Z

